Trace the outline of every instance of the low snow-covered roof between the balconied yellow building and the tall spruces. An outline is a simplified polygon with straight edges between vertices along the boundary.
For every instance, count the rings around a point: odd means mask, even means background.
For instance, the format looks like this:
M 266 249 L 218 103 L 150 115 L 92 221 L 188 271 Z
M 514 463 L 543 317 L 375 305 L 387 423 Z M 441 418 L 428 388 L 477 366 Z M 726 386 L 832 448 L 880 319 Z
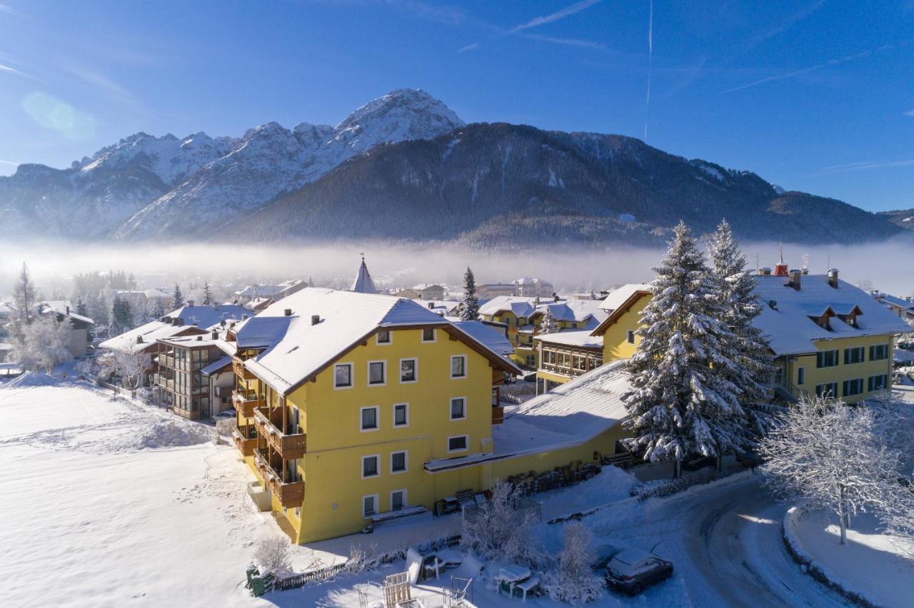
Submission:
M 491 454 L 441 458 L 429 471 L 579 446 L 628 416 L 622 395 L 631 390 L 627 359 L 602 365 L 524 404 L 505 408 L 505 422 L 492 427 Z

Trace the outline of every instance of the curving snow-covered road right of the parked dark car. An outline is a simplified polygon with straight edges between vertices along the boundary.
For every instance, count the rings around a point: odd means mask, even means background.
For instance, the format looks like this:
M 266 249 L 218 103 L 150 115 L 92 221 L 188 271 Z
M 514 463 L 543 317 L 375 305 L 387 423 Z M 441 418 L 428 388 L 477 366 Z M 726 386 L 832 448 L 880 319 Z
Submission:
M 622 525 L 606 517 L 598 531 L 647 549 L 659 542 L 656 552 L 674 562 L 695 606 L 848 605 L 792 561 L 781 540 L 787 507 L 760 475 L 643 507 Z

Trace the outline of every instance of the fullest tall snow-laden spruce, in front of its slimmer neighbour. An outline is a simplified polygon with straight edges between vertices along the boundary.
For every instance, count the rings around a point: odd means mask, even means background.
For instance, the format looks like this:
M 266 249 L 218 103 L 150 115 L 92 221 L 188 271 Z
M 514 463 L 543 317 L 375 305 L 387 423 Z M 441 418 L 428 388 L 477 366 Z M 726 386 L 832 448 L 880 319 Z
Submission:
M 738 356 L 720 321 L 726 311 L 683 222 L 654 272 L 653 297 L 637 330 L 641 341 L 627 365 L 632 391 L 623 398 L 630 416 L 625 426 L 634 435 L 628 446 L 643 449 L 651 461 L 674 460 L 678 477 L 685 456 L 717 456 L 742 446 L 738 427 L 745 413 L 739 387 L 721 372 Z

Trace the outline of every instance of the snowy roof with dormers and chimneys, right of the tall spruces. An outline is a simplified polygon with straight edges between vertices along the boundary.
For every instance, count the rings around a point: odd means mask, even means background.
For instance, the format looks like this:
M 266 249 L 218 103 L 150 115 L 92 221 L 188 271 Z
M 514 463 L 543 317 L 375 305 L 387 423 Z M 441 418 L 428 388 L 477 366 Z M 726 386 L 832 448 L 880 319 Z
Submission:
M 838 280 L 837 288 L 831 287 L 826 275 L 804 275 L 800 289 L 786 283 L 785 277 L 756 276 L 755 293 L 763 304 L 754 321 L 756 327 L 768 335 L 771 350 L 776 355 L 802 354 L 816 351 L 814 341 L 838 338 L 875 336 L 904 333 L 910 327 L 897 315 L 887 310 L 877 299 L 861 288 Z M 771 307 L 775 303 L 776 309 Z M 838 317 L 830 317 L 831 330 L 820 327 L 811 316 L 822 316 L 828 310 L 845 315 L 854 308 L 856 327 Z

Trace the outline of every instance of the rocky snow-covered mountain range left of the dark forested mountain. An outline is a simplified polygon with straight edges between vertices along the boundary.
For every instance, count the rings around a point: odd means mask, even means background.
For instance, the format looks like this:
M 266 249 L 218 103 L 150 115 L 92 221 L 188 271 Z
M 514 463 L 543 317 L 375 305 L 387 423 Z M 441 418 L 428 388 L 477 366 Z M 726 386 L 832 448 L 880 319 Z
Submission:
M 69 169 L 27 164 L 0 177 L 0 217 L 17 236 L 198 236 L 379 144 L 430 139 L 463 124 L 425 91 L 399 89 L 336 127 L 268 122 L 239 138 L 140 132 Z

